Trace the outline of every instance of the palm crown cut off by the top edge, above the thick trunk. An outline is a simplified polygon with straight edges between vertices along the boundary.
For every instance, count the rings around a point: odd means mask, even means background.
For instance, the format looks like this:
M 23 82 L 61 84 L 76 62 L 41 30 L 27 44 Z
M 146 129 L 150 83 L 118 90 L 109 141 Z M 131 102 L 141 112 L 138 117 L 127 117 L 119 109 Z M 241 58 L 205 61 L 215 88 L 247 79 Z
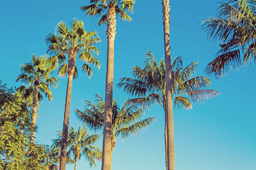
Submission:
M 115 8 L 121 20 L 131 21 L 126 11 L 133 12 L 134 0 L 90 0 L 90 5 L 81 7 L 86 15 L 100 15 L 99 25 L 106 24 L 109 8 Z

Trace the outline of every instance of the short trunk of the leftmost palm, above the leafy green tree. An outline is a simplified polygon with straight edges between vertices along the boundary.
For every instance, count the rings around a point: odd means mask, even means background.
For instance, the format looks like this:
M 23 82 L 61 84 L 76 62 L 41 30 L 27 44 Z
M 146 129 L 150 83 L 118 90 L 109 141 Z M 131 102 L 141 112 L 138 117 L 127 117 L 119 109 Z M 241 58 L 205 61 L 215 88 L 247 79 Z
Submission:
M 35 130 L 36 130 L 36 117 L 37 117 L 37 103 L 38 103 L 38 80 L 35 81 L 34 94 L 33 94 L 33 106 L 32 106 L 32 131 L 30 143 L 34 143 Z

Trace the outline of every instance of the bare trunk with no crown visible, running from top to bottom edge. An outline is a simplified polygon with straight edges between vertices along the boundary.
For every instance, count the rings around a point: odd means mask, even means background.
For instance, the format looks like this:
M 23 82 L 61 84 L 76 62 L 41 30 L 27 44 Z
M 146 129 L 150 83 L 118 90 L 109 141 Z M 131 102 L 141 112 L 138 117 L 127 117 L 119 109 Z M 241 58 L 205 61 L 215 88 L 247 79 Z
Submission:
M 162 0 L 166 82 L 167 169 L 174 170 L 172 70 L 170 57 L 170 0 Z

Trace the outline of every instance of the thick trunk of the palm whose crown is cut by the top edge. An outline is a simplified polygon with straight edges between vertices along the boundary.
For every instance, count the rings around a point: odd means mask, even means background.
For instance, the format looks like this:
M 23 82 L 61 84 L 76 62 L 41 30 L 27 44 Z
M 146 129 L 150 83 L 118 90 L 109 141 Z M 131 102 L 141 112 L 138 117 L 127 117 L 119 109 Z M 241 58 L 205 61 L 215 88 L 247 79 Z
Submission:
M 103 132 L 102 170 L 111 170 L 111 125 L 114 78 L 114 45 L 116 34 L 115 7 L 109 8 L 107 20 L 108 59 L 106 73 L 105 117 Z

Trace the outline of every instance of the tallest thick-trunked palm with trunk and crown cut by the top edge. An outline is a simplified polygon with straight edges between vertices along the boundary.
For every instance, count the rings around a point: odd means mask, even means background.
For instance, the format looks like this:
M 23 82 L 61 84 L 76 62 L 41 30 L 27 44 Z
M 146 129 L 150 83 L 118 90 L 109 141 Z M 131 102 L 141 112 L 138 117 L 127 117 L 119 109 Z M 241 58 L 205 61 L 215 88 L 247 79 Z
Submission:
M 102 170 L 111 169 L 111 111 L 113 100 L 116 14 L 121 17 L 121 20 L 131 21 L 132 18 L 127 15 L 126 11 L 133 11 L 133 4 L 134 0 L 90 0 L 90 5 L 81 8 L 83 11 L 87 11 L 86 15 L 100 15 L 99 25 L 107 23 L 108 57 L 105 94 L 106 118 L 104 120 Z

